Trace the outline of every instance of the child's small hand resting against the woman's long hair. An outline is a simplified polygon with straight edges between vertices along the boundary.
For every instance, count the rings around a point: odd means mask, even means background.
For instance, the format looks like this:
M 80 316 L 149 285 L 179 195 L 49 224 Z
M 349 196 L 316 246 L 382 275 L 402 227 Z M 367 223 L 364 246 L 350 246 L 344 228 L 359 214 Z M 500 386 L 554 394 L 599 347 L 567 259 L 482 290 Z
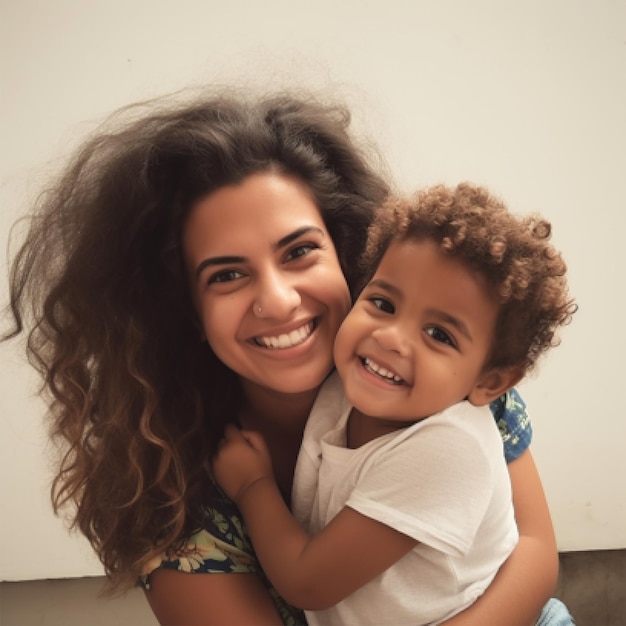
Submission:
M 235 504 L 262 478 L 274 479 L 272 460 L 262 435 L 229 424 L 211 462 L 213 476 Z

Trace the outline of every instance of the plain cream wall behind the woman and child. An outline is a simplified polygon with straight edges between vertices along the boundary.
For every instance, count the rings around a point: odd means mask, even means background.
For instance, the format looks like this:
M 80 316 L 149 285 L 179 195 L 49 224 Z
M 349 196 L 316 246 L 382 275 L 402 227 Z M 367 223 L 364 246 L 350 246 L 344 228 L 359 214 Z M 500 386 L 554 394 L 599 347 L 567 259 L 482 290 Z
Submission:
M 117 107 L 208 84 L 346 100 L 401 190 L 539 211 L 580 310 L 521 385 L 561 550 L 626 547 L 626 2 L 0 0 L 0 240 Z M 7 300 L 0 257 L 0 305 Z M 100 574 L 51 513 L 37 380 L 0 346 L 0 579 Z M 477 486 L 478 488 L 478 486 Z

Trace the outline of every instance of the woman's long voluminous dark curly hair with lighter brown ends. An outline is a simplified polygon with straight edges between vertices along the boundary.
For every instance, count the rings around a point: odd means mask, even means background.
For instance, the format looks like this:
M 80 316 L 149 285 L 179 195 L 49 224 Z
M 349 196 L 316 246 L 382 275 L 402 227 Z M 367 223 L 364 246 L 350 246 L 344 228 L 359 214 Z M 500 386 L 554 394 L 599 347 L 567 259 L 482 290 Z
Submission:
M 211 484 L 207 458 L 238 379 L 201 343 L 181 229 L 191 205 L 264 171 L 313 193 L 348 284 L 358 277 L 380 163 L 350 116 L 309 95 L 220 93 L 128 107 L 42 194 L 11 265 L 14 326 L 43 377 L 63 456 L 55 511 L 96 550 L 113 588 L 180 548 Z M 286 209 L 287 210 L 287 209 Z

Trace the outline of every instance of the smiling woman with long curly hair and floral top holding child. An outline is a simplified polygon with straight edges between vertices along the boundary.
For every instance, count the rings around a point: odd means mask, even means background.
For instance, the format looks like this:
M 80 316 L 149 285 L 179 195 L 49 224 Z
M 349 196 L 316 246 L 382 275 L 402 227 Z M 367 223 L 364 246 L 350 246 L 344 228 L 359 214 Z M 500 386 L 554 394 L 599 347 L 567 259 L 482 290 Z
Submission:
M 289 499 L 388 187 L 340 107 L 224 95 L 139 112 L 82 148 L 12 265 L 12 335 L 28 332 L 63 444 L 55 509 L 75 505 L 114 588 L 150 574 L 161 623 L 298 620 L 268 588 L 207 460 L 226 423 L 260 430 Z M 556 582 L 515 401 L 498 410 L 518 447 L 520 543 L 455 623 L 532 623 Z

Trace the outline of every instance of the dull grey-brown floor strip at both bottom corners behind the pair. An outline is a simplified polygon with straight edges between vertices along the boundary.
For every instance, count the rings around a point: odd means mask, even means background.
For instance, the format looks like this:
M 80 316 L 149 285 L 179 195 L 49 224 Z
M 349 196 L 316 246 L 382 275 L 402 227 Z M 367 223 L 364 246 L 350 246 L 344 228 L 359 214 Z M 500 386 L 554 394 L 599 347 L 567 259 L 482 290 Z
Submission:
M 157 625 L 140 590 L 106 599 L 101 589 L 101 578 L 0 583 L 0 624 Z M 577 626 L 626 625 L 626 550 L 562 554 L 556 595 Z

